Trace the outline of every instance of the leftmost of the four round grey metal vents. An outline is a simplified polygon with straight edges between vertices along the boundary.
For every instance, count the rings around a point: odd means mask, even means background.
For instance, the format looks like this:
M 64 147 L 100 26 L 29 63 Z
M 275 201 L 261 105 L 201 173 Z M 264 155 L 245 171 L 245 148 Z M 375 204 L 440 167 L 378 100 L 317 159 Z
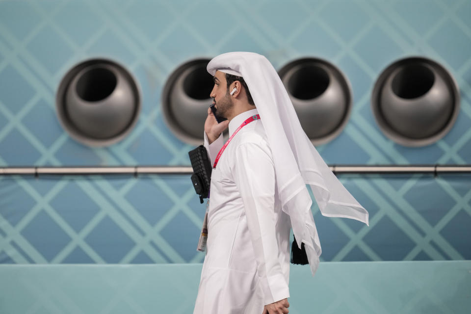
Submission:
M 91 59 L 74 66 L 62 78 L 56 95 L 62 127 L 80 143 L 108 146 L 122 140 L 137 122 L 140 92 L 121 65 Z

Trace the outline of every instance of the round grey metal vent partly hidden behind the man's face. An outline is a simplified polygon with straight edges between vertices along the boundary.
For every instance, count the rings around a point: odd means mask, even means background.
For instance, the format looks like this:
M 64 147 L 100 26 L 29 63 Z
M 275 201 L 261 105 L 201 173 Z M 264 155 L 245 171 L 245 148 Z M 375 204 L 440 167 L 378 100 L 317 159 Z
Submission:
M 203 143 L 207 110 L 214 85 L 206 71 L 210 59 L 195 59 L 179 66 L 167 79 L 162 93 L 162 112 L 169 129 L 183 142 Z

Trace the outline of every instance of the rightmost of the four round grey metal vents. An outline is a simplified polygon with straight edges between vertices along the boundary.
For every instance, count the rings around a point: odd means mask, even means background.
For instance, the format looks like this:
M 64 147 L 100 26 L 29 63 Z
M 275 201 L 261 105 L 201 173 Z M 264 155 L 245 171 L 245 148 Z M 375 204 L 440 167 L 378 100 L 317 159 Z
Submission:
M 376 80 L 371 96 L 380 129 L 404 146 L 425 146 L 445 136 L 459 106 L 458 85 L 451 74 L 422 57 L 388 66 Z

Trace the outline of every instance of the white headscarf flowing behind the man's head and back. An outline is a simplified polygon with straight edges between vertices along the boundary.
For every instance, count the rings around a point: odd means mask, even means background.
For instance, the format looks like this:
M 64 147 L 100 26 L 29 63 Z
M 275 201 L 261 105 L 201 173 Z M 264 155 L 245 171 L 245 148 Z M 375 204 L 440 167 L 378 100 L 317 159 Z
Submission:
M 217 70 L 237 75 L 247 83 L 273 153 L 283 211 L 290 217 L 298 247 L 305 244 L 314 275 L 322 251 L 306 184 L 324 216 L 368 224 L 368 212 L 340 183 L 303 131 L 288 92 L 267 58 L 254 52 L 228 52 L 209 61 L 207 70 L 212 76 Z

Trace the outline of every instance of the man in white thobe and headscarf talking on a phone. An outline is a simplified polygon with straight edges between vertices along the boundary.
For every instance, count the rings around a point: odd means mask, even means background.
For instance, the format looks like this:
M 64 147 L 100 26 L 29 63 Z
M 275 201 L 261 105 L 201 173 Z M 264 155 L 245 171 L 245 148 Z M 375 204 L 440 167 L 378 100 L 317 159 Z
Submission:
M 311 185 L 322 214 L 367 223 L 368 214 L 307 138 L 270 62 L 251 52 L 219 55 L 213 75 L 217 123 L 205 122 L 213 170 L 208 240 L 194 314 L 288 313 L 289 231 L 314 274 L 321 253 Z M 222 131 L 231 137 L 223 146 Z

